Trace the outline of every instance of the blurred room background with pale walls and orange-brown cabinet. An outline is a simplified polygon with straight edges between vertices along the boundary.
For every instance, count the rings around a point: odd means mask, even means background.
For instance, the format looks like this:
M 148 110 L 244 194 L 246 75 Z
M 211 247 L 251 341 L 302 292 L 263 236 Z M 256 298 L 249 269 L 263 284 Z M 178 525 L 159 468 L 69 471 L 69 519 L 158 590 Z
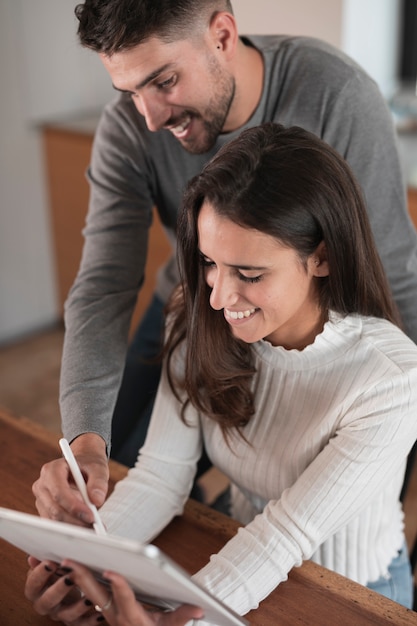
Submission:
M 321 38 L 375 79 L 398 130 L 417 220 L 417 0 L 232 2 L 242 34 Z M 54 432 L 62 309 L 87 211 L 84 173 L 98 116 L 114 94 L 98 57 L 78 45 L 76 4 L 0 0 L 0 407 Z M 157 220 L 151 236 L 142 308 L 167 254 Z M 221 491 L 221 477 L 214 483 Z M 417 520 L 417 483 L 408 507 Z M 408 529 L 409 545 L 416 533 Z

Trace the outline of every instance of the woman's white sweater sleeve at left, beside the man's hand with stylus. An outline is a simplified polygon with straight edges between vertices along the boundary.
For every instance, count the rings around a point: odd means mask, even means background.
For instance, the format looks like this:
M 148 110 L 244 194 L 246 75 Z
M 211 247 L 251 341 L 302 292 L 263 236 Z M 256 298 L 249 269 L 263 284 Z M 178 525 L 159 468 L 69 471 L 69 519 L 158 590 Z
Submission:
M 201 451 L 199 416 L 189 406 L 181 419 L 164 370 L 137 463 L 100 509 L 108 531 L 142 542 L 156 537 L 181 515 Z

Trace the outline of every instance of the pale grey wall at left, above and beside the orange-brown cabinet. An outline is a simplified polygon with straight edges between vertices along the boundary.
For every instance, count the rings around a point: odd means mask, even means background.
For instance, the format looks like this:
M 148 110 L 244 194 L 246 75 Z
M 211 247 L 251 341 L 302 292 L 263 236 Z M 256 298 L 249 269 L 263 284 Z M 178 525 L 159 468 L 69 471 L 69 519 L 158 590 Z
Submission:
M 112 92 L 77 44 L 75 4 L 0 2 L 0 343 L 57 318 L 39 123 L 101 107 Z

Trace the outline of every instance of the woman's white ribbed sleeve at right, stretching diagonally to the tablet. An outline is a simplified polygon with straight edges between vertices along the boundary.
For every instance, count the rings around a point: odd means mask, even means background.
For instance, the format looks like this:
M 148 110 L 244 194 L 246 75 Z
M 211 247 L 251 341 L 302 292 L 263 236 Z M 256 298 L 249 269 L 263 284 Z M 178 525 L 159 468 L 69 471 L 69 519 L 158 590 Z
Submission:
M 241 615 L 257 608 L 403 471 L 417 436 L 416 406 L 415 372 L 365 391 L 298 480 L 213 555 L 195 580 Z

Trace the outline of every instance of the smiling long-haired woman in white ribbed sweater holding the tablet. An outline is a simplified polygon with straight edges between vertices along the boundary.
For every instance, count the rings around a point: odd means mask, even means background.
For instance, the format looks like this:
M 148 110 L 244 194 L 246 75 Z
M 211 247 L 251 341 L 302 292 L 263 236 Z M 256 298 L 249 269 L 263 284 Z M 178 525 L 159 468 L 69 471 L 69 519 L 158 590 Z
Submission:
M 300 128 L 249 129 L 191 181 L 178 240 L 164 375 L 138 462 L 101 509 L 108 530 L 148 541 L 181 513 L 204 440 L 245 527 L 199 583 L 244 615 L 312 559 L 411 606 L 399 494 L 417 347 L 349 167 Z M 66 623 L 97 620 L 82 600 L 62 608 L 71 583 L 110 624 L 201 617 L 146 614 L 123 579 L 108 574 L 109 598 L 73 563 L 43 593 L 56 566 L 30 562 L 27 597 Z

